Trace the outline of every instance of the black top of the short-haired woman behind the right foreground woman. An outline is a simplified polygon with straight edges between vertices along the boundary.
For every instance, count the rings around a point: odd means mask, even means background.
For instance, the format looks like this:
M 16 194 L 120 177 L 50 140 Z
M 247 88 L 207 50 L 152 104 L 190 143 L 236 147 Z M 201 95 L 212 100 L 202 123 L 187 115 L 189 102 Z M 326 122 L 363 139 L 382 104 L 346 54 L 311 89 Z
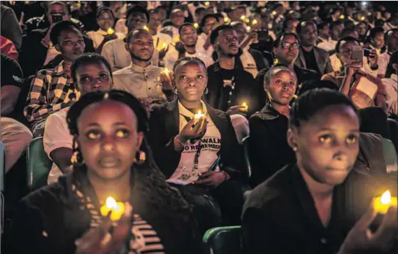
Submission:
M 249 126 L 250 186 L 255 187 L 296 157 L 287 144 L 288 119 L 270 104 L 250 117 Z

